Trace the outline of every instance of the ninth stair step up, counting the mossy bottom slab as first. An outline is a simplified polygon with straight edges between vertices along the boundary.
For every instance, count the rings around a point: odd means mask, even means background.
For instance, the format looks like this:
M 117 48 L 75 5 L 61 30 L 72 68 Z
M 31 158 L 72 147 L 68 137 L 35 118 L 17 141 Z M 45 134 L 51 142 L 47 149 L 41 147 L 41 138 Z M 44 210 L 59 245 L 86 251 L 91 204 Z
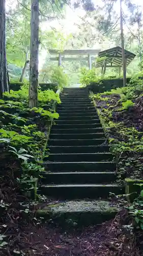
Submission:
M 79 129 L 58 129 L 58 127 L 52 127 L 51 129 L 51 134 L 89 134 L 89 133 L 103 133 L 104 130 L 102 127 L 97 127 L 97 128 L 79 128 Z

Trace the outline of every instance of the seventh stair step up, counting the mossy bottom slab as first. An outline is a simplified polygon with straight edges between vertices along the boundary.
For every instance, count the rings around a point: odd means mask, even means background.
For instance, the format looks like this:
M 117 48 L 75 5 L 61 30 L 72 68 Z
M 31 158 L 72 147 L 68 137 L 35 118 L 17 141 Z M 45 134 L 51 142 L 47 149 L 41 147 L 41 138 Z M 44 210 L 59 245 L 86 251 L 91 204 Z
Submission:
M 49 145 L 53 146 L 89 146 L 106 144 L 106 138 L 103 139 L 49 139 Z

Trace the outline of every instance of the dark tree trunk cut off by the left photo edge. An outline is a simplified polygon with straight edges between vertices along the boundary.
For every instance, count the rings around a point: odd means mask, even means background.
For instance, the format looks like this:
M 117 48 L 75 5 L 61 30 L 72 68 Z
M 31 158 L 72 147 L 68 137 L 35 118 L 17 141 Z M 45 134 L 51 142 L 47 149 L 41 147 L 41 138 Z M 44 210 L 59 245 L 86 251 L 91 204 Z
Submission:
M 9 91 L 6 60 L 6 1 L 0 1 L 0 96 Z

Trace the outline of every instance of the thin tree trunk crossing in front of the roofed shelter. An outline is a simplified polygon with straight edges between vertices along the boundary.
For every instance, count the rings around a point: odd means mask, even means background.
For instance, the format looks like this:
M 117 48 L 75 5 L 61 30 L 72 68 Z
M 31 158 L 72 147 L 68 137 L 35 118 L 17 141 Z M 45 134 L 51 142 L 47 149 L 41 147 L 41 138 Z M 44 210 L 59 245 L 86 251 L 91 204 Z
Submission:
M 121 46 L 122 46 L 123 84 L 124 86 L 126 86 L 126 58 L 125 58 L 125 49 L 124 49 L 122 0 L 120 0 L 120 29 L 121 29 Z

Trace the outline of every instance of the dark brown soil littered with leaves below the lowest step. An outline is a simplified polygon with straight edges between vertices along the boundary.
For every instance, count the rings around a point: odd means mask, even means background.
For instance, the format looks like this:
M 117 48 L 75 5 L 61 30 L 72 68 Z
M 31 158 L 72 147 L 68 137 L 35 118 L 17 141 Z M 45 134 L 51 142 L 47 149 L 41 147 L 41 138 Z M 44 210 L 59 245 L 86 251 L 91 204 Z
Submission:
M 123 210 L 111 221 L 83 229 L 64 230 L 48 223 L 27 225 L 19 234 L 16 250 L 26 256 L 142 256 L 125 222 L 127 212 Z M 136 237 L 139 239 L 139 234 Z

